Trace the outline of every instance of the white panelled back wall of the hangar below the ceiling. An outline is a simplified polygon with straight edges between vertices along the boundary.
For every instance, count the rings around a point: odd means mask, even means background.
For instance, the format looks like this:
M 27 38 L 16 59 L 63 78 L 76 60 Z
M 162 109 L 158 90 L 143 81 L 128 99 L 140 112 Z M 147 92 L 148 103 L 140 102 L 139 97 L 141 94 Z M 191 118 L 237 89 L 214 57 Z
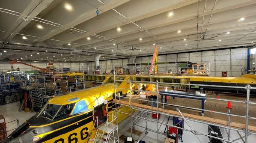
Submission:
M 227 71 L 227 76 L 235 77 L 241 76 L 241 69 L 247 67 L 247 48 L 236 48 L 236 49 L 225 49 L 225 50 L 213 50 L 213 51 L 203 51 L 203 52 L 190 52 L 190 53 L 180 53 L 180 54 L 166 54 L 159 55 L 158 62 L 174 62 L 178 61 L 191 61 L 193 63 L 210 63 L 210 76 L 221 76 L 222 71 Z M 152 56 L 136 57 L 136 63 L 150 63 Z M 48 62 L 24 62 L 27 64 L 32 64 L 41 68 L 45 68 Z M 115 66 L 122 66 L 124 68 L 130 68 L 133 70 L 135 66 L 127 66 L 128 63 L 133 63 L 131 59 L 115 59 L 115 60 L 102 60 L 99 61 L 100 73 L 102 74 L 105 70 L 112 70 L 113 64 Z M 89 74 L 94 71 L 94 62 L 54 62 L 54 65 L 58 69 L 70 67 L 71 71 L 82 71 L 82 65 L 84 70 L 87 71 L 89 65 Z M 13 64 L 13 69 L 20 68 L 23 71 L 34 70 L 32 67 L 22 65 L 19 63 Z M 9 62 L 0 62 L 0 70 L 6 71 L 10 70 L 11 65 Z M 145 71 L 148 73 L 146 65 L 136 66 L 136 70 Z M 158 66 L 159 73 L 168 73 L 168 70 L 173 72 L 176 70 L 175 64 L 160 64 Z

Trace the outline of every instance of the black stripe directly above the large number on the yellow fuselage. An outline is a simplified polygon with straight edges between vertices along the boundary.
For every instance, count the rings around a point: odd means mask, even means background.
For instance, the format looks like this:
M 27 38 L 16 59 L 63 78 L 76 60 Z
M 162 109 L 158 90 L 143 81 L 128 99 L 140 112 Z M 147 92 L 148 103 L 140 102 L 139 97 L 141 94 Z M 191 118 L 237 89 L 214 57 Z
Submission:
M 60 130 L 57 130 L 51 134 L 48 134 L 46 136 L 44 136 L 41 140 L 39 140 L 38 142 L 45 142 L 47 140 L 50 140 L 52 138 L 55 138 L 57 136 L 60 136 L 62 134 L 65 134 L 65 133 L 68 133 L 72 130 L 75 130 L 76 128 L 79 128 L 81 126 L 84 126 L 85 124 L 88 124 L 89 122 L 93 121 L 93 117 L 89 117 L 83 121 L 80 121 L 78 122 L 78 124 L 72 124 L 71 126 L 68 126 L 66 128 L 63 128 L 63 129 L 60 129 Z

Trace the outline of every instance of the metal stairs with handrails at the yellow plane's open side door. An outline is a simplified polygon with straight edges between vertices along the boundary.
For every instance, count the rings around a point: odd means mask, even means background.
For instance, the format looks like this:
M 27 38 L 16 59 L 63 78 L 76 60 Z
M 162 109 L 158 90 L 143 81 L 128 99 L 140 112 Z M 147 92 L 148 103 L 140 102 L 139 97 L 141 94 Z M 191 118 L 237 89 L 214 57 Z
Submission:
M 117 109 L 111 109 L 112 111 L 107 114 L 107 121 L 100 127 L 97 126 L 94 139 L 89 139 L 88 143 L 119 143 Z

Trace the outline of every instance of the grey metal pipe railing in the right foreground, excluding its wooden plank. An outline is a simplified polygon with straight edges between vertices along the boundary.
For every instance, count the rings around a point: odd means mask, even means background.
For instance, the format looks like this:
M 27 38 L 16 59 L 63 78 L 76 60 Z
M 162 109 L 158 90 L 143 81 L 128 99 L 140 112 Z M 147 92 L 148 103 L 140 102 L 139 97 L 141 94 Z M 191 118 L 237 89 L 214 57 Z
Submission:
M 113 64 L 113 68 L 115 67 L 115 65 Z M 150 122 L 155 122 L 157 123 L 157 130 L 155 131 L 157 133 L 157 142 L 159 142 L 159 137 L 158 137 L 158 134 L 160 134 L 159 132 L 159 127 L 158 127 L 158 124 L 160 125 L 167 125 L 169 127 L 175 127 L 175 128 L 178 128 L 178 129 L 182 129 L 184 131 L 190 131 L 192 132 L 193 134 L 195 134 L 196 136 L 198 135 L 204 135 L 204 136 L 208 136 L 208 137 L 211 137 L 211 138 L 215 138 L 215 139 L 219 139 L 221 141 L 224 141 L 224 142 L 231 142 L 231 143 L 236 143 L 232 140 L 230 140 L 230 130 L 234 130 L 234 131 L 237 131 L 237 132 L 242 132 L 242 133 L 245 133 L 245 143 L 248 142 L 248 135 L 251 135 L 251 134 L 254 134 L 256 135 L 256 133 L 254 132 L 251 132 L 248 130 L 248 122 L 249 122 L 249 119 L 256 119 L 256 117 L 251 117 L 249 116 L 249 107 L 250 107 L 250 104 L 256 104 L 256 103 L 253 103 L 250 101 L 250 90 L 251 89 L 256 89 L 254 87 L 251 87 L 251 85 L 246 85 L 245 87 L 241 87 L 241 86 L 215 86 L 215 85 L 202 85 L 202 84 L 185 84 L 185 83 L 166 83 L 166 82 L 147 82 L 147 81 L 131 81 L 131 80 L 128 80 L 128 81 L 124 81 L 124 80 L 116 80 L 116 77 L 118 77 L 115 73 L 114 73 L 114 84 L 115 84 L 115 103 L 116 104 L 120 104 L 120 105 L 123 105 L 123 106 L 128 106 L 130 107 L 130 114 L 127 114 L 127 113 L 124 113 L 124 112 L 121 112 L 121 111 L 118 111 L 122 114 L 126 114 L 126 115 L 130 115 L 130 121 L 131 121 L 131 137 L 132 137 L 132 125 L 133 125 L 133 118 L 134 119 L 139 119 L 139 120 L 145 120 L 145 121 L 150 121 Z M 129 82 L 129 89 L 125 89 L 125 88 L 118 88 L 116 86 L 116 82 Z M 144 83 L 144 84 L 154 84 L 156 86 L 156 91 L 155 92 L 151 92 L 151 91 L 144 91 L 144 90 L 140 90 L 139 88 L 136 90 L 136 89 L 132 89 L 132 84 L 139 84 L 139 83 Z M 197 97 L 197 98 L 202 98 L 202 99 L 209 99 L 209 100 L 218 100 L 218 101 L 230 101 L 230 102 L 236 102 L 236 103 L 239 103 L 239 104 L 245 104 L 246 105 L 246 112 L 245 112 L 245 115 L 236 115 L 236 114 L 231 114 L 230 112 L 228 113 L 224 113 L 224 112 L 220 112 L 220 111 L 214 111 L 214 110 L 207 110 L 207 109 L 198 109 L 198 108 L 194 108 L 194 107 L 188 107 L 188 106 L 181 106 L 181 105 L 175 105 L 175 104 L 169 104 L 169 103 L 164 103 L 162 102 L 163 99 L 160 99 L 160 102 L 159 102 L 159 97 L 156 96 L 156 101 L 151 101 L 151 100 L 144 100 L 144 99 L 138 99 L 138 98 L 133 98 L 131 95 L 132 95 L 132 92 L 134 91 L 137 91 L 138 93 L 140 92 L 147 92 L 147 93 L 152 93 L 152 94 L 155 94 L 155 95 L 159 95 L 161 93 L 161 91 L 159 92 L 158 91 L 158 87 L 159 85 L 170 85 L 170 86 L 204 86 L 204 87 L 221 87 L 221 88 L 236 88 L 236 89 L 245 89 L 247 91 L 246 93 L 246 100 L 245 101 L 239 101 L 239 100 L 228 100 L 228 99 L 217 99 L 217 98 L 209 98 L 209 97 Z M 120 96 L 120 95 L 117 95 L 116 92 L 118 90 L 127 90 L 129 94 L 127 95 L 130 95 L 130 96 Z M 165 95 L 168 95 L 168 93 L 164 93 Z M 171 93 L 172 95 L 177 95 L 175 93 Z M 189 97 L 188 95 L 179 95 L 181 97 Z M 117 99 L 118 97 L 118 99 Z M 127 100 L 126 100 L 127 99 Z M 119 100 L 119 101 L 118 101 Z M 121 103 L 121 100 L 125 100 L 127 101 L 127 104 L 122 104 Z M 151 109 L 141 109 L 141 108 L 136 108 L 136 106 L 133 106 L 132 103 L 133 102 L 136 102 L 136 100 L 138 101 L 147 101 L 147 102 L 151 102 L 151 104 L 153 103 L 156 103 L 157 107 L 155 109 L 153 109 L 153 107 Z M 158 106 L 162 105 L 161 108 L 159 108 Z M 164 110 L 164 106 L 173 106 L 173 107 L 176 107 L 177 108 L 177 111 L 180 113 L 180 115 L 174 115 L 174 114 L 170 114 L 170 113 L 166 113 Z M 211 122 L 206 122 L 206 121 L 202 121 L 202 120 L 199 120 L 199 119 L 191 119 L 191 118 L 186 118 L 182 115 L 182 113 L 180 112 L 179 108 L 186 108 L 186 109 L 193 109 L 193 110 L 199 110 L 199 111 L 204 111 L 204 112 L 210 112 L 210 113 L 216 113 L 216 114 L 222 114 L 222 115 L 225 115 L 225 116 L 228 116 L 229 119 L 227 121 L 227 125 L 222 125 L 222 124 L 218 124 L 218 123 L 211 123 Z M 185 129 L 185 128 L 181 128 L 181 127 L 177 127 L 177 126 L 174 126 L 174 125 L 170 125 L 170 124 L 166 124 L 164 122 L 160 122 L 159 121 L 159 118 L 157 116 L 157 119 L 156 120 L 152 120 L 152 119 L 148 119 L 148 118 L 143 118 L 143 117 L 140 117 L 140 116 L 136 116 L 136 115 L 133 115 L 132 114 L 132 109 L 136 109 L 136 110 L 139 110 L 141 112 L 146 112 L 146 113 L 156 113 L 157 115 L 160 114 L 161 116 L 174 116 L 174 117 L 179 117 L 179 118 L 182 118 L 185 120 L 185 122 L 187 123 L 187 120 L 190 120 L 190 121 L 196 121 L 196 122 L 200 122 L 200 123 L 203 123 L 203 124 L 207 124 L 207 125 L 215 125 L 215 126 L 219 126 L 221 128 L 224 128 L 224 129 L 227 129 L 229 130 L 228 132 L 228 139 L 224 139 L 224 138 L 219 138 L 219 137 L 215 137 L 215 136 L 212 136 L 212 135 L 208 135 L 208 134 L 204 134 L 204 133 L 200 133 L 198 131 L 195 132 L 194 129 L 192 129 L 190 127 L 190 129 Z M 161 109 L 161 110 L 160 110 Z M 230 123 L 231 123 L 231 120 L 230 120 L 230 116 L 235 116 L 235 117 L 239 117 L 239 118 L 245 118 L 245 128 L 244 129 L 237 129 L 235 128 L 234 126 L 230 126 Z M 232 122 L 233 123 L 233 122 Z M 199 138 L 198 138 L 199 139 Z M 240 137 L 240 139 L 243 140 L 243 137 Z M 199 139 L 200 141 L 200 139 Z M 201 142 L 201 141 L 200 141 Z

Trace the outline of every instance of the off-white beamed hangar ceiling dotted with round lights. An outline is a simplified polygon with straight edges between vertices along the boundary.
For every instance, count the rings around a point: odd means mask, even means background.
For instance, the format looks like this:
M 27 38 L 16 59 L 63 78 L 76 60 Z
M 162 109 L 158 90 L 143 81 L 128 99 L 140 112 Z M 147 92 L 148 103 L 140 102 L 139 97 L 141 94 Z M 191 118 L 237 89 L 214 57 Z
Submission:
M 152 54 L 156 43 L 159 54 L 254 45 L 255 7 L 255 0 L 1 0 L 0 60 L 127 58 Z

